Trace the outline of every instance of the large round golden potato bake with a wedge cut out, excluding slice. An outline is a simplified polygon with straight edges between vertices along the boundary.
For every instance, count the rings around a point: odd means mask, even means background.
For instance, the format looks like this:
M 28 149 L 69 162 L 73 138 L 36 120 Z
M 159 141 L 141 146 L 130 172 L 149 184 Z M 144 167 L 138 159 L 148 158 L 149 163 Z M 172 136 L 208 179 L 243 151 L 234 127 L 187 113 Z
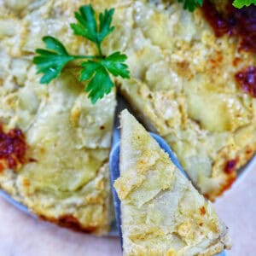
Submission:
M 255 99 L 234 78 L 255 66 L 255 55 L 240 51 L 236 37 L 216 37 L 201 9 L 164 0 L 0 0 L 1 137 L 15 149 L 0 157 L 1 188 L 42 218 L 108 230 L 115 93 L 91 105 L 72 68 L 45 86 L 32 65 L 45 35 L 73 54 L 95 53 L 69 27 L 88 3 L 97 12 L 115 9 L 103 51 L 128 55 L 131 79 L 116 81 L 119 92 L 214 200 L 255 152 Z

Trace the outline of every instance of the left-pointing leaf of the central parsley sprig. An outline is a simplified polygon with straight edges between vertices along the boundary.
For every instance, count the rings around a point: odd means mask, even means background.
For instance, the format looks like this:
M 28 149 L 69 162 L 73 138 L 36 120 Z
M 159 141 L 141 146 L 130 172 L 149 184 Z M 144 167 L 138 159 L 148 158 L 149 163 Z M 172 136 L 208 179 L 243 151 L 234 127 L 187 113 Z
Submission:
M 40 84 L 49 84 L 52 79 L 59 76 L 67 62 L 73 61 L 74 56 L 68 55 L 67 49 L 59 40 L 52 37 L 44 37 L 46 49 L 36 49 L 37 56 L 33 63 L 38 67 L 38 73 L 44 73 Z

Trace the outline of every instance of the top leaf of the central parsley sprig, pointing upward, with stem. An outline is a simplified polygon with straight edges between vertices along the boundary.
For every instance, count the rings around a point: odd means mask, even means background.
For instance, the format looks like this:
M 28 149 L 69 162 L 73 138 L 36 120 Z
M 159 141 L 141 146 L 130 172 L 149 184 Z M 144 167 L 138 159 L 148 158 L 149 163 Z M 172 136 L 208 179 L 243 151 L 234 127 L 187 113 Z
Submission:
M 113 12 L 114 9 L 105 9 L 104 14 L 100 14 L 100 26 L 98 28 L 96 24 L 96 15 L 91 4 L 84 5 L 79 9 L 79 13 L 75 13 L 78 23 L 73 23 L 70 26 L 75 35 L 82 36 L 95 43 L 99 50 L 99 54 L 102 55 L 102 41 L 113 32 L 114 29 L 114 26 L 111 26 Z

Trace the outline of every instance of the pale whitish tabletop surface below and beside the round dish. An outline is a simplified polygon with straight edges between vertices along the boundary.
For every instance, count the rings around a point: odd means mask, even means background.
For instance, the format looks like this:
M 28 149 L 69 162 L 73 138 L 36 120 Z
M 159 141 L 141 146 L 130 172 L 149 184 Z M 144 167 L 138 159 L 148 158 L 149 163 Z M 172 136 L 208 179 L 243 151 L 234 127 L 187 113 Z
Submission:
M 256 255 L 256 165 L 215 203 L 230 227 L 228 255 Z M 0 256 L 120 256 L 117 238 L 97 238 L 38 221 L 0 198 Z

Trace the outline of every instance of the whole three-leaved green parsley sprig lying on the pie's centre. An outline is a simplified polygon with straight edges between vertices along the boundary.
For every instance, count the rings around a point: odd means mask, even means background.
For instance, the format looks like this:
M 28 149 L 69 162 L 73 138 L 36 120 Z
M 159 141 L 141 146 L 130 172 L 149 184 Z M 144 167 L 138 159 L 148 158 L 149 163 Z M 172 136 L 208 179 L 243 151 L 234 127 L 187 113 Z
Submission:
M 78 59 L 87 59 L 81 63 L 79 79 L 88 82 L 85 91 L 89 93 L 88 97 L 92 103 L 96 103 L 112 90 L 114 83 L 110 74 L 114 77 L 129 79 L 130 72 L 125 64 L 126 55 L 119 51 L 108 56 L 102 54 L 102 42 L 114 29 L 114 26 L 111 26 L 113 12 L 114 9 L 106 9 L 104 13 L 101 13 L 99 25 L 97 25 L 94 9 L 91 5 L 84 5 L 79 12 L 74 14 L 78 23 L 70 25 L 75 35 L 96 44 L 98 55 L 70 55 L 58 39 L 50 36 L 44 37 L 46 49 L 36 49 L 37 55 L 33 59 L 38 73 L 43 73 L 40 84 L 49 84 L 60 76 L 67 63 Z

